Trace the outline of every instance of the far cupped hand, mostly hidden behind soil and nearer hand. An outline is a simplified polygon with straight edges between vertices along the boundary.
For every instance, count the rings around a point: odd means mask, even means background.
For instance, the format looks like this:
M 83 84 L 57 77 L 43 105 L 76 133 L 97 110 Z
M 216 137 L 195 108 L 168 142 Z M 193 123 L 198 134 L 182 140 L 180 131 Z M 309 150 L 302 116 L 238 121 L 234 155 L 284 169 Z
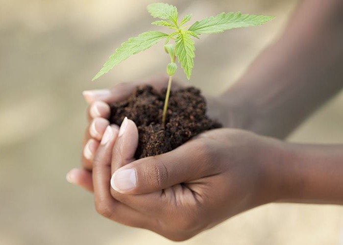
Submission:
M 84 97 L 89 104 L 87 110 L 88 127 L 86 128 L 84 139 L 82 142 L 82 160 L 81 169 L 73 169 L 67 174 L 68 181 L 77 184 L 88 191 L 93 192 L 93 184 L 91 179 L 92 161 L 94 154 L 99 146 L 99 141 L 109 125 L 108 118 L 110 116 L 109 104 L 119 102 L 129 97 L 135 88 L 139 85 L 148 84 L 155 89 L 160 90 L 167 86 L 168 77 L 157 76 L 149 81 L 121 83 L 107 90 L 85 91 Z M 183 87 L 178 82 L 173 81 L 172 89 Z M 240 127 L 239 111 L 234 112 L 223 102 L 220 97 L 206 96 L 208 103 L 208 115 L 211 118 L 219 120 L 225 127 Z M 116 125 L 113 125 L 116 127 Z M 117 126 L 118 127 L 118 126 Z M 118 127 L 119 128 L 119 127 Z

